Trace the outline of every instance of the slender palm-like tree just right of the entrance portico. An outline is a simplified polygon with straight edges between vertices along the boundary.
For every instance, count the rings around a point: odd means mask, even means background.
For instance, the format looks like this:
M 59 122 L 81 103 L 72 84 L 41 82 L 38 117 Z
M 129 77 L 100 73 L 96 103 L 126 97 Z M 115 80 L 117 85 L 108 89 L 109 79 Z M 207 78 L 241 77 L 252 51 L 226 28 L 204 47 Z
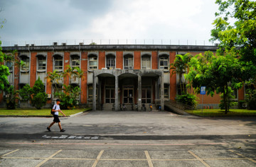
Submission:
M 171 75 L 177 74 L 178 75 L 178 84 L 181 88 L 181 95 L 186 94 L 185 84 L 182 83 L 182 76 L 186 73 L 188 69 L 188 62 L 190 61 L 192 55 L 186 53 L 176 54 L 176 58 L 174 59 L 174 63 L 170 64 L 170 70 L 172 70 Z

